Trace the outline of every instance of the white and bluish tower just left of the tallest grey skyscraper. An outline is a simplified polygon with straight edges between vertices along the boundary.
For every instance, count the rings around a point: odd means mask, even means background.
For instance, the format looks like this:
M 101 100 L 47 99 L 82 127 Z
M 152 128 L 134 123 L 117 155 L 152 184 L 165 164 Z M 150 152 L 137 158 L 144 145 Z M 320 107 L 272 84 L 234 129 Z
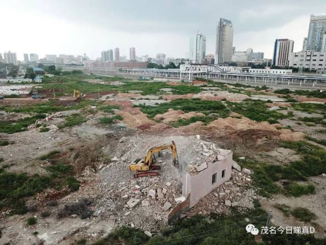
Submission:
M 204 63 L 206 56 L 206 37 L 203 34 L 196 34 L 190 38 L 189 60 L 192 63 Z

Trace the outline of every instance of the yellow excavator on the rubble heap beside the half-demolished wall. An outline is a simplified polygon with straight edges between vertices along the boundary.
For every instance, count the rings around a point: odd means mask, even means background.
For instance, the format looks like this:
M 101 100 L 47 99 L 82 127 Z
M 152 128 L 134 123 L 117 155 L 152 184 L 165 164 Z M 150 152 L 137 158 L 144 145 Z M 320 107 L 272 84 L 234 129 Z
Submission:
M 135 178 L 144 176 L 158 176 L 158 170 L 161 169 L 159 165 L 153 164 L 156 161 L 155 153 L 160 154 L 163 150 L 170 149 L 172 152 L 173 165 L 179 164 L 177 147 L 172 141 L 169 144 L 163 144 L 156 147 L 152 147 L 148 150 L 147 155 L 142 159 L 137 159 L 129 165 L 131 171 L 137 171 L 133 176 Z

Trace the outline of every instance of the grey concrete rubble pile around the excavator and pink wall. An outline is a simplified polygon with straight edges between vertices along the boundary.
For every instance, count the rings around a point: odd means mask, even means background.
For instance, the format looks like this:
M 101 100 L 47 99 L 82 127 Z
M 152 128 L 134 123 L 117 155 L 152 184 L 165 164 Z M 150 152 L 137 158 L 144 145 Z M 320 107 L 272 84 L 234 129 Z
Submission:
M 162 152 L 163 157 L 157 159 L 157 163 L 161 165 L 159 176 L 133 178 L 133 173 L 128 168 L 129 163 L 144 157 L 150 147 L 171 140 L 176 142 L 180 165 L 172 164 L 169 151 Z M 191 165 L 195 173 L 196 169 L 198 171 L 205 166 L 200 163 L 212 162 L 220 157 L 220 151 L 225 151 L 211 142 L 201 140 L 199 136 L 137 135 L 123 137 L 119 141 L 115 149 L 112 146 L 102 149 L 104 154 L 110 156 L 110 163 L 101 166 L 97 175 L 92 176 L 98 189 L 94 215 L 99 219 L 114 218 L 116 225 L 147 231 L 157 231 L 165 226 L 169 212 L 185 200 L 182 197 L 181 175 L 186 172 L 187 166 Z M 239 173 L 233 170 L 229 182 L 204 197 L 187 215 L 198 214 L 200 211 L 223 212 L 229 209 L 229 201 L 231 206 L 251 207 L 253 194 L 244 191 L 245 184 L 250 184 L 251 179 L 244 173 L 245 170 L 242 169 Z M 215 193 L 218 193 L 217 197 Z

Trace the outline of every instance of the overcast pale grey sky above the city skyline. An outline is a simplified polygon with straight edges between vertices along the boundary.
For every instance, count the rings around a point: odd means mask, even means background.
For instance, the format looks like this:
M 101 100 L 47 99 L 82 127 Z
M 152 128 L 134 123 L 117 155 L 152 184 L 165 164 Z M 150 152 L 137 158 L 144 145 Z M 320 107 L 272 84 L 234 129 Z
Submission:
M 36 53 L 100 57 L 102 50 L 120 48 L 136 55 L 183 58 L 189 37 L 206 35 L 206 54 L 215 53 L 219 18 L 232 21 L 233 46 L 252 47 L 265 57 L 273 55 L 277 38 L 294 40 L 300 51 L 308 35 L 310 14 L 325 15 L 325 0 L 0 0 L 0 53 Z

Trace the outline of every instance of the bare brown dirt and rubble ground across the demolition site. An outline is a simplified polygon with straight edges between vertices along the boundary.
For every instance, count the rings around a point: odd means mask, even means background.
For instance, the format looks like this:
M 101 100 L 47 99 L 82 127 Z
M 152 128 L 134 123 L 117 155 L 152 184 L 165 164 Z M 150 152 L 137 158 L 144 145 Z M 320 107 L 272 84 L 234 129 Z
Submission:
M 102 83 L 102 80 L 89 81 Z M 121 83 L 121 82 L 110 82 Z M 179 85 L 179 83 L 169 83 Z M 233 86 L 232 86 L 233 87 Z M 206 88 L 206 87 L 205 87 Z M 116 93 L 115 91 L 100 93 L 104 104 L 119 105 L 120 109 L 114 109 L 116 115 L 123 117 L 112 125 L 99 124 L 99 118 L 103 113 L 88 114 L 87 121 L 71 128 L 59 129 L 57 126 L 64 122 L 64 116 L 78 113 L 80 110 L 60 112 L 49 121 L 42 120 L 48 132 L 41 133 L 35 125 L 29 127 L 28 131 L 14 134 L 0 134 L 0 139 L 6 139 L 9 144 L 1 146 L 0 157 L 4 158 L 1 164 L 8 164 L 7 170 L 16 173 L 25 172 L 30 175 L 47 173 L 46 167 L 51 164 L 48 160 L 40 160 L 40 156 L 57 150 L 58 160 L 73 165 L 73 174 L 80 182 L 79 190 L 69 191 L 46 189 L 27 200 L 28 204 L 36 204 L 37 210 L 30 211 L 24 215 L 8 215 L 9 210 L 0 214 L 0 228 L 5 235 L 0 238 L 0 244 L 8 242 L 13 244 L 74 244 L 76 240 L 85 237 L 87 240 L 96 240 L 110 233 L 113 229 L 121 226 L 142 228 L 143 230 L 157 232 L 166 226 L 168 210 L 164 210 L 164 204 L 170 202 L 172 206 L 178 204 L 178 197 L 181 195 L 180 176 L 182 169 L 187 164 L 195 161 L 203 161 L 200 152 L 200 143 L 210 142 L 215 145 L 233 150 L 240 156 L 255 158 L 270 164 L 287 164 L 301 157 L 295 151 L 281 148 L 278 145 L 280 139 L 305 140 L 309 135 L 318 139 L 324 139 L 325 134 L 318 131 L 325 128 L 321 125 L 307 126 L 297 124 L 301 117 L 321 117 L 321 114 L 308 114 L 292 109 L 279 112 L 293 112 L 291 119 L 279 119 L 279 124 L 271 125 L 268 122 L 257 122 L 236 113 L 229 117 L 218 118 L 204 125 L 197 121 L 188 126 L 173 128 L 172 121 L 192 116 L 202 116 L 200 112 L 184 113 L 180 110 L 169 110 L 164 114 L 157 115 L 155 120 L 148 118 L 139 107 L 133 107 L 135 103 L 167 102 L 178 98 L 200 98 L 202 100 L 220 101 L 224 98 L 230 101 L 243 101 L 250 98 L 246 94 L 230 93 L 221 91 L 220 88 L 210 87 L 205 92 L 185 95 L 164 95 L 164 100 L 157 100 L 157 95 L 149 95 L 149 100 L 130 100 L 130 97 L 143 99 L 140 91 L 129 91 L 129 93 Z M 254 90 L 255 91 L 255 90 Z M 165 91 L 171 92 L 171 91 Z M 96 98 L 97 93 L 88 94 L 90 99 Z M 106 99 L 106 96 L 109 96 Z M 266 92 L 252 99 L 271 100 L 274 103 L 270 106 L 288 106 L 283 98 L 273 92 Z M 68 106 L 71 101 L 59 101 L 62 105 Z M 304 99 L 302 99 L 304 100 Z M 40 103 L 46 100 L 31 99 L 5 99 L 0 100 L 2 105 L 29 105 Z M 317 100 L 318 102 L 318 100 Z M 320 102 L 319 102 L 320 103 Z M 1 121 L 10 121 L 24 117 L 20 113 L 2 113 Z M 290 126 L 290 129 L 284 129 Z M 282 128 L 283 129 L 280 129 Z M 198 137 L 196 135 L 199 135 Z M 162 166 L 158 177 L 133 178 L 129 171 L 129 164 L 138 158 L 144 157 L 151 146 L 168 143 L 174 140 L 177 144 L 177 151 L 180 166 L 174 166 L 171 161 L 171 154 L 164 153 L 158 159 Z M 312 142 L 317 144 L 315 142 Z M 317 144 L 321 146 L 320 144 Z M 321 146 L 325 148 L 326 146 Z M 237 161 L 237 159 L 234 159 Z M 252 186 L 250 175 L 233 169 L 230 183 L 224 184 L 213 190 L 186 215 L 195 214 L 209 215 L 210 213 L 231 213 L 233 208 L 242 212 L 247 208 L 254 208 L 254 200 L 259 200 L 262 208 L 266 211 L 272 210 L 271 221 L 275 225 L 294 226 L 305 224 L 300 223 L 292 216 L 286 217 L 280 210 L 274 207 L 275 204 L 286 204 L 290 207 L 306 207 L 317 215 L 316 226 L 317 236 L 322 236 L 326 230 L 326 178 L 323 176 L 312 177 L 310 182 L 315 183 L 316 193 L 303 195 L 300 198 L 275 195 L 266 199 L 260 197 Z M 168 184 L 169 183 L 169 184 Z M 165 191 L 161 198 L 151 198 L 149 191 L 154 189 Z M 226 191 L 227 190 L 227 191 Z M 220 192 L 226 192 L 221 197 Z M 58 218 L 60 210 L 64 209 L 67 203 L 79 202 L 82 198 L 92 200 L 90 209 L 93 214 L 86 219 L 77 215 L 68 215 Z M 238 203 L 237 207 L 225 205 L 226 198 Z M 48 201 L 55 199 L 58 206 L 49 206 Z M 135 207 L 130 207 L 128 201 L 138 200 Z M 48 217 L 41 217 L 41 212 L 48 211 Z M 31 216 L 37 217 L 37 224 L 26 225 L 26 219 Z M 318 224 L 318 225 L 316 225 Z M 37 231 L 37 235 L 33 232 Z

